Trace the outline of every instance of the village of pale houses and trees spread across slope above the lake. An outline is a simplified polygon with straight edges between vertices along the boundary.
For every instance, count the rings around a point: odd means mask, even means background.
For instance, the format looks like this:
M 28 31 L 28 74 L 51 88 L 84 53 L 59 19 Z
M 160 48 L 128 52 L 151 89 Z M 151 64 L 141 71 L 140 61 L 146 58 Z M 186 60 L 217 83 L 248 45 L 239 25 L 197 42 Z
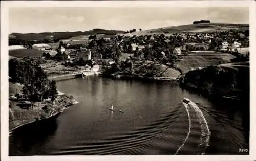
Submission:
M 48 60 L 48 63 L 42 63 L 41 67 L 49 74 L 70 73 L 69 71 L 81 70 L 85 65 L 110 67 L 112 64 L 124 62 L 130 58 L 136 61 L 157 59 L 163 64 L 169 62 L 173 67 L 177 67 L 178 59 L 191 54 L 203 56 L 239 53 L 244 56 L 249 55 L 247 30 L 171 34 L 159 29 L 157 33 L 150 31 L 146 35 L 137 34 L 137 36 L 133 33 L 81 35 L 60 39 L 55 43 L 54 39 L 56 38 L 53 35 L 47 35 L 45 40 L 49 43 L 13 45 L 9 48 L 10 50 L 32 48 L 40 51 L 40 56 Z

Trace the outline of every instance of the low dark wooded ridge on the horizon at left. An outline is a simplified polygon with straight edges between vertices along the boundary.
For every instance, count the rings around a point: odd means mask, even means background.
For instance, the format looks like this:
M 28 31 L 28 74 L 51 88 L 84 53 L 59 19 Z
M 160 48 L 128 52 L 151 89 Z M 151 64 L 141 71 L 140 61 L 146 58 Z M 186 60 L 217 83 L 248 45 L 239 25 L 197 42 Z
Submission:
M 124 31 L 121 30 L 105 30 L 105 29 L 93 29 L 90 31 L 76 31 L 76 32 L 42 32 L 42 33 L 11 33 L 9 38 L 21 39 L 25 41 L 33 40 L 44 40 L 46 36 L 53 35 L 55 38 L 59 39 L 68 39 L 80 35 L 94 35 L 94 34 L 106 34 L 106 35 L 115 35 L 122 34 Z

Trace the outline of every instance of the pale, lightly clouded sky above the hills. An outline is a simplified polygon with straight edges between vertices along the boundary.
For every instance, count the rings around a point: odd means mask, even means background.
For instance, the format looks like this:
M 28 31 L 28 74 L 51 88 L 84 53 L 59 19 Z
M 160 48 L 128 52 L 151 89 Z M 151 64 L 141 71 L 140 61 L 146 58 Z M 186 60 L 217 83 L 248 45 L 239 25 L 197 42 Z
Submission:
M 10 8 L 9 34 L 88 31 L 95 28 L 147 30 L 192 24 L 197 20 L 246 24 L 249 23 L 249 8 Z

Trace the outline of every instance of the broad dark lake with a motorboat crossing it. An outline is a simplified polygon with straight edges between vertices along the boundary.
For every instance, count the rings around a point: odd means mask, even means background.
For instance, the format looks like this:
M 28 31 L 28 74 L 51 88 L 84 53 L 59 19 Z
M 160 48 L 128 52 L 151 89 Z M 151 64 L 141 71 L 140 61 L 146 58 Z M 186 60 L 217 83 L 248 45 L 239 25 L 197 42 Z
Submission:
M 178 82 L 92 76 L 57 88 L 79 103 L 12 133 L 9 155 L 248 154 L 238 152 L 248 148 L 243 105 L 209 101 Z M 184 98 L 195 107 L 185 108 Z

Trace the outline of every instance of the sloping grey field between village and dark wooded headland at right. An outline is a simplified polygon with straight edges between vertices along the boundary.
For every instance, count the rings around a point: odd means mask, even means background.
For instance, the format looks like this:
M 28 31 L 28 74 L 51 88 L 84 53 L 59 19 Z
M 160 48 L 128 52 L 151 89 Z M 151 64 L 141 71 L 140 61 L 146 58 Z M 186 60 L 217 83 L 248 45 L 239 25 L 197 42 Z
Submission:
M 206 53 L 210 54 L 210 53 Z M 198 67 L 206 67 L 209 65 L 218 65 L 220 63 L 228 63 L 235 56 L 231 54 L 212 54 L 212 55 L 187 55 L 182 56 L 182 60 L 177 63 L 177 67 L 186 73 Z

